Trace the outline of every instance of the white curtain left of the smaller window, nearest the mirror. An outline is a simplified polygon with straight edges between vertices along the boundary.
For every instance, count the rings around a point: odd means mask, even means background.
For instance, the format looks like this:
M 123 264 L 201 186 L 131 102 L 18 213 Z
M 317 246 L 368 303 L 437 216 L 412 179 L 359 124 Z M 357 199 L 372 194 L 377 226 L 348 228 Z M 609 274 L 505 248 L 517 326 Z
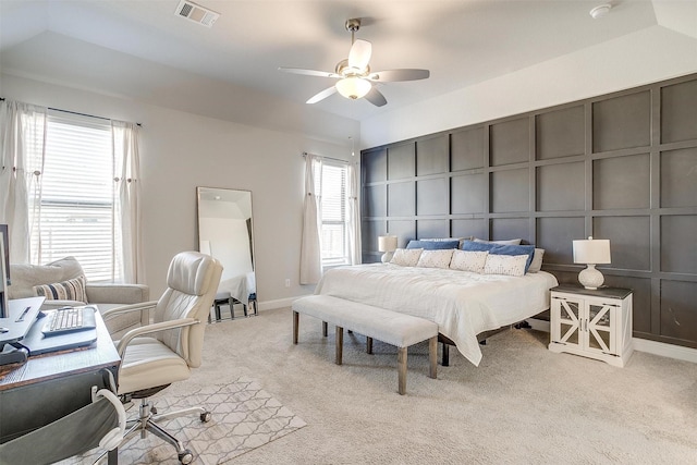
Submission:
M 303 205 L 303 238 L 301 242 L 301 284 L 317 284 L 322 276 L 322 254 L 319 242 L 320 200 L 315 194 L 315 170 L 321 173 L 321 160 L 305 156 L 305 201 Z

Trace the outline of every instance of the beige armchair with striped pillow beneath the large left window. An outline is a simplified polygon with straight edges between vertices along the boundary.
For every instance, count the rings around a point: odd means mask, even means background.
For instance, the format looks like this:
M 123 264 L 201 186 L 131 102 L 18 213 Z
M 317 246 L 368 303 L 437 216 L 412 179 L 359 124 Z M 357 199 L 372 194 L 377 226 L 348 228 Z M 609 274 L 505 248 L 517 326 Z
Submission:
M 85 271 L 74 257 L 65 257 L 47 265 L 10 265 L 12 285 L 8 287 L 9 298 L 34 297 L 40 289 L 61 290 L 70 284 L 71 292 L 56 292 L 47 295 L 41 308 L 50 309 L 65 305 L 95 304 L 99 311 L 127 304 L 145 302 L 149 289 L 144 284 L 90 283 L 85 281 Z M 122 315 L 107 322 L 112 338 L 119 339 L 129 329 L 142 322 L 136 314 Z

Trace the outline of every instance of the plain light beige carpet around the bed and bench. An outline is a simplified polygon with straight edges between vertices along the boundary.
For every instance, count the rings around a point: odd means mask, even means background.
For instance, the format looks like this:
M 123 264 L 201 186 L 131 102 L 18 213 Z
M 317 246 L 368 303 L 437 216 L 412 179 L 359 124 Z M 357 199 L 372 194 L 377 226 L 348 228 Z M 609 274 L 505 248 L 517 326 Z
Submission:
M 195 382 L 259 381 L 307 426 L 231 464 L 697 464 L 697 364 L 635 352 L 625 368 L 547 348 L 549 333 L 504 331 L 479 367 L 451 350 L 428 377 L 428 346 L 409 348 L 399 395 L 396 348 L 289 308 L 211 325 Z M 194 380 L 192 378 L 192 380 Z M 183 384 L 180 383 L 182 388 Z

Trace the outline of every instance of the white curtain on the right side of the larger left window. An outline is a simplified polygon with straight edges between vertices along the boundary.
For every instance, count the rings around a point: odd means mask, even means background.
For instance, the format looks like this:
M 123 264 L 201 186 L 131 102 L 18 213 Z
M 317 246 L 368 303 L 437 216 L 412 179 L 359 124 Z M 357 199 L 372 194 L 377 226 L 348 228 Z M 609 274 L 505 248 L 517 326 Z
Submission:
M 114 223 L 121 224 L 120 234 L 114 234 L 113 250 L 121 279 L 125 282 L 143 283 L 143 237 L 140 234 L 140 161 L 138 155 L 138 125 L 121 121 L 111 122 L 114 161 Z M 120 220 L 120 221 L 119 221 Z M 118 235 L 121 241 L 118 241 Z

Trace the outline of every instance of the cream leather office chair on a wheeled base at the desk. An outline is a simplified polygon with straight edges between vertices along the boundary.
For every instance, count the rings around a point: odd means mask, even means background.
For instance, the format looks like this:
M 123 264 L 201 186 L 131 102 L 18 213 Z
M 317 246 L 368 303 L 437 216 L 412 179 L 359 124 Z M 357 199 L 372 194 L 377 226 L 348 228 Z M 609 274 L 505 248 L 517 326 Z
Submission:
M 183 381 L 191 369 L 200 366 L 206 321 L 213 303 L 222 266 L 218 260 L 197 252 L 178 254 L 170 264 L 167 286 L 157 302 L 111 308 L 102 315 L 109 320 L 120 314 L 144 314 L 140 320 L 152 322 L 132 329 L 117 342 L 121 356 L 118 393 L 124 400 L 140 399 L 139 416 L 129 420 L 124 441 L 136 432 L 145 437 L 155 433 L 176 448 L 182 464 L 191 463 L 193 454 L 157 423 L 189 413 L 198 413 L 201 421 L 210 419 L 203 407 L 157 415 L 148 397 L 172 382 Z

